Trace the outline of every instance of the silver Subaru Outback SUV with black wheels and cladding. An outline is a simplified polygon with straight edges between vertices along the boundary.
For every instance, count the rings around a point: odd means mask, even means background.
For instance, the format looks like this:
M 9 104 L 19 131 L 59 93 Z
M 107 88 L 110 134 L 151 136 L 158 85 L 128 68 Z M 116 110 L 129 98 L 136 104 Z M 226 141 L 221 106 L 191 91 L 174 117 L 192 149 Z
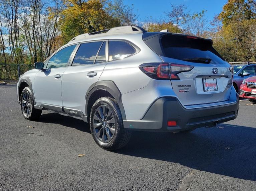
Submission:
M 131 130 L 189 132 L 235 119 L 232 78 L 209 39 L 124 26 L 73 38 L 24 73 L 17 94 L 26 119 L 48 110 L 83 120 L 114 150 Z

